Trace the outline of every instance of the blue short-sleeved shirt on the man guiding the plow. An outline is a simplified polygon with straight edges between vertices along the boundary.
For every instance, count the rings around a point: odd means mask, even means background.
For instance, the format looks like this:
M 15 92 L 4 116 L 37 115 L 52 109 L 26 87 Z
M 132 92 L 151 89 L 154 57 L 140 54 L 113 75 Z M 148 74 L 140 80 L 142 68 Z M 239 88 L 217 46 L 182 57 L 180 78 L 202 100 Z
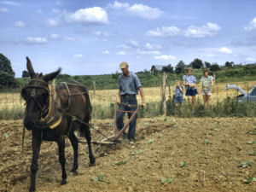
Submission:
M 135 73 L 129 72 L 128 77 L 124 74 L 119 76 L 119 90 L 121 95 L 137 94 L 137 90 L 142 84 Z

